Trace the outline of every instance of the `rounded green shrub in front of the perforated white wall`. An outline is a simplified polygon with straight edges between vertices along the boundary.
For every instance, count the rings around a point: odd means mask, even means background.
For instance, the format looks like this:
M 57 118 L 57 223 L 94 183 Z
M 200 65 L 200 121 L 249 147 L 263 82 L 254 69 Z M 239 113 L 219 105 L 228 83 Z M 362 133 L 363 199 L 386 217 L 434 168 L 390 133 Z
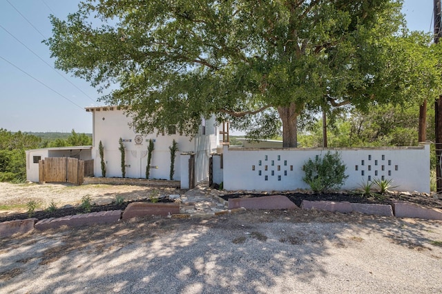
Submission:
M 314 160 L 309 159 L 302 166 L 302 170 L 305 172 L 302 180 L 315 193 L 340 188 L 348 177 L 345 175 L 345 164 L 337 152 L 333 154 L 327 152 L 323 157 L 316 156 Z

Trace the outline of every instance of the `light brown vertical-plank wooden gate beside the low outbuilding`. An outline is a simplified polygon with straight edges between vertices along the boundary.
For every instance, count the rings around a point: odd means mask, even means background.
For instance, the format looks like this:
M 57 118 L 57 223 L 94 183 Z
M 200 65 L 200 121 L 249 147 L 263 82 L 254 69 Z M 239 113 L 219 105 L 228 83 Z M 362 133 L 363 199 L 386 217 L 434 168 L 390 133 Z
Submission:
M 93 160 L 84 161 L 72 157 L 46 157 L 39 161 L 40 184 L 45 182 L 69 182 L 81 185 L 84 182 L 84 176 L 91 173 L 93 174 Z

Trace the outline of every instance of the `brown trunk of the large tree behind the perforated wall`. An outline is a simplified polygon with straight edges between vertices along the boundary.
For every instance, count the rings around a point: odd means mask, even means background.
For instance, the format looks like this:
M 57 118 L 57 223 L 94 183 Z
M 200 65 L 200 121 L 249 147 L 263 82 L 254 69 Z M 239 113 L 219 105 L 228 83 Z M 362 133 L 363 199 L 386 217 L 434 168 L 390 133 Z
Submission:
M 278 107 L 278 113 L 282 120 L 282 147 L 298 147 L 298 112 L 296 105 L 291 103 L 289 107 Z

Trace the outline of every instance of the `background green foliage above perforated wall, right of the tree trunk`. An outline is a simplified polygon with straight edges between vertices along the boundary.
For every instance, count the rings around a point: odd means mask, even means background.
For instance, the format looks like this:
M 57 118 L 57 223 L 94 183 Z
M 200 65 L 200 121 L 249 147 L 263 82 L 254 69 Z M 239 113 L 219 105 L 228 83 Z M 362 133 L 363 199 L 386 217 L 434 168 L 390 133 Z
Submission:
M 327 121 L 328 147 L 417 146 L 418 126 L 418 103 L 349 109 Z M 427 140 L 434 140 L 434 108 L 427 111 Z M 299 141 L 302 147 L 323 146 L 322 119 L 302 129 Z

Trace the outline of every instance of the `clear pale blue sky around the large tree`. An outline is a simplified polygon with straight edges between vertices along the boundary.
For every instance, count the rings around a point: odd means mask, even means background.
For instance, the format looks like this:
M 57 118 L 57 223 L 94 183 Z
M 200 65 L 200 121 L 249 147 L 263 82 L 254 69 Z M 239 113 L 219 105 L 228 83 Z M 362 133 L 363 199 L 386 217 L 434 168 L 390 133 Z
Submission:
M 101 105 L 95 88 L 57 72 L 42 40 L 52 28 L 49 14 L 64 19 L 77 0 L 0 1 L 0 128 L 16 132 L 92 133 L 87 106 Z M 405 0 L 410 30 L 432 31 L 432 0 Z

